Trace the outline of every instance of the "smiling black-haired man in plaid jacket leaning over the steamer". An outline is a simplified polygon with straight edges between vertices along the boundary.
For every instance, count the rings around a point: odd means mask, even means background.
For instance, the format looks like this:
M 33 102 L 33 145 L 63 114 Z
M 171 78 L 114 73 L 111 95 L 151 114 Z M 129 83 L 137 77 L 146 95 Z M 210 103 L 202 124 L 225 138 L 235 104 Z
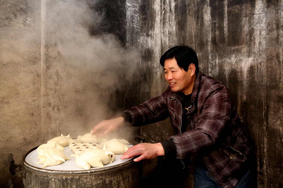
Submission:
M 121 159 L 134 161 L 197 156 L 194 187 L 251 187 L 247 159 L 251 144 L 228 88 L 198 70 L 197 55 L 188 46 L 175 46 L 160 58 L 169 86 L 161 95 L 132 107 L 122 117 L 104 120 L 93 133 L 108 134 L 124 121 L 134 126 L 170 118 L 175 135 L 156 144 L 137 144 Z M 103 132 L 104 131 L 104 132 Z

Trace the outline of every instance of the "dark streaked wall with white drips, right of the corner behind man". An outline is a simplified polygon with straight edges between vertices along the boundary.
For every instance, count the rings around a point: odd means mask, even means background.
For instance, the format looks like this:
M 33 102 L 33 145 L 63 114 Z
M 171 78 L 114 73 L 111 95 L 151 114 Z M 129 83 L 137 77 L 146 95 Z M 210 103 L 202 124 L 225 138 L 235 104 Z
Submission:
M 192 46 L 200 70 L 228 86 L 251 134 L 257 187 L 283 187 L 283 2 L 128 0 L 127 6 L 128 38 L 142 53 L 141 101 L 167 86 L 160 55 Z M 170 127 L 168 121 L 143 126 L 141 134 L 158 142 Z

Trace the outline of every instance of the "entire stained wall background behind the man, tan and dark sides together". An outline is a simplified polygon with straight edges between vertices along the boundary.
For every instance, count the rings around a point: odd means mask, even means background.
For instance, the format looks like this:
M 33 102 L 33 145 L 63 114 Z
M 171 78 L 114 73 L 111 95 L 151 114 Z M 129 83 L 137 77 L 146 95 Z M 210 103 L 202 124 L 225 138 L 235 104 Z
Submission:
M 37 145 L 89 132 L 164 91 L 159 58 L 186 44 L 197 51 L 200 71 L 230 89 L 254 144 L 257 187 L 283 187 L 282 1 L 0 4 L 1 185 L 12 177 L 8 153 L 19 164 Z M 165 120 L 140 133 L 154 143 L 173 131 Z

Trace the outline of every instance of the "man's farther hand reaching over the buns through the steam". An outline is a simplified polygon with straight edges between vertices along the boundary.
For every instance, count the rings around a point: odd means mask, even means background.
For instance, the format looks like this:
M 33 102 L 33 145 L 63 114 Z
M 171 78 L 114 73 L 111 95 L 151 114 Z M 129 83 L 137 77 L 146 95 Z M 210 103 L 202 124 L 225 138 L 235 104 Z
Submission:
M 121 126 L 124 121 L 122 116 L 115 119 L 103 120 L 93 127 L 92 135 L 95 134 L 97 137 L 107 135 Z

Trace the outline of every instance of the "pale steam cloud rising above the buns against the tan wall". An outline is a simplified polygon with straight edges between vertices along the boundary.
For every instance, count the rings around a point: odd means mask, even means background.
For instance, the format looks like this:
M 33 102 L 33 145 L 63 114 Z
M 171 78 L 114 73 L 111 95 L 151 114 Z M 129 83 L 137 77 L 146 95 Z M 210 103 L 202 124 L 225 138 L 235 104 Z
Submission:
M 125 50 L 114 34 L 101 32 L 105 20 L 103 12 L 95 8 L 97 3 L 46 0 L 43 4 L 46 91 L 54 91 L 48 100 L 51 107 L 58 106 L 53 114 L 58 113 L 58 118 L 53 123 L 68 124 L 75 136 L 78 127 L 83 135 L 111 118 L 113 111 L 108 104 L 116 107 L 111 96 L 129 87 L 125 83 L 132 79 L 139 62 L 138 55 Z M 100 34 L 91 36 L 90 27 Z

